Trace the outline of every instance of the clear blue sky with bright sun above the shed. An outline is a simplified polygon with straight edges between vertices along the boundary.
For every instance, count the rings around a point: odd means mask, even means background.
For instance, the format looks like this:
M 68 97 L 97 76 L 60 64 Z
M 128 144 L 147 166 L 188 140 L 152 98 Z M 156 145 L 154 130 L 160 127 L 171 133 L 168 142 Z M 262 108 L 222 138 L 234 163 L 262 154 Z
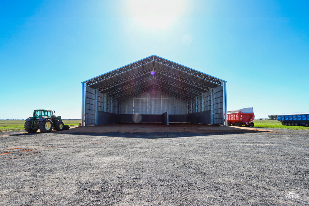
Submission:
M 227 81 L 227 109 L 309 111 L 309 1 L 0 1 L 0 119 L 81 118 L 81 82 L 152 54 Z

